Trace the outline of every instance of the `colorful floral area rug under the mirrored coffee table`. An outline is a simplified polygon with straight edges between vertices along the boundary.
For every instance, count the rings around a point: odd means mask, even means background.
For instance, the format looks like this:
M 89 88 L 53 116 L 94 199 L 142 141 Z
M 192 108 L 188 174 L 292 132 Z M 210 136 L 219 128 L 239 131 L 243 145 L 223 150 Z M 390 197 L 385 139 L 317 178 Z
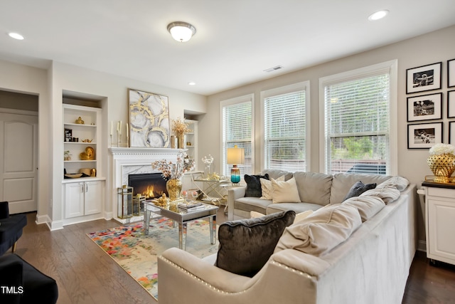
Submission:
M 167 248 L 178 247 L 178 227 L 169 219 L 152 219 L 149 234 L 144 235 L 143 223 L 87 234 L 132 278 L 158 300 L 157 256 Z M 208 221 L 188 223 L 186 251 L 203 258 L 218 251 L 218 241 L 210 243 Z

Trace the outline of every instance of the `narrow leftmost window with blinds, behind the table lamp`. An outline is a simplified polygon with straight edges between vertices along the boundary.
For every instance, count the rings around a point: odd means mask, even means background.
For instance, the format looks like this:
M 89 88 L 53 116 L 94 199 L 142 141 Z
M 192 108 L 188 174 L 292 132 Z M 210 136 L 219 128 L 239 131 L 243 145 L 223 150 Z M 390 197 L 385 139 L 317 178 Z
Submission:
M 237 167 L 240 168 L 240 175 L 252 174 L 253 98 L 254 95 L 245 95 L 221 102 L 223 175 L 230 175 L 232 165 L 227 164 L 226 150 L 235 145 L 245 149 L 245 163 L 237 164 Z

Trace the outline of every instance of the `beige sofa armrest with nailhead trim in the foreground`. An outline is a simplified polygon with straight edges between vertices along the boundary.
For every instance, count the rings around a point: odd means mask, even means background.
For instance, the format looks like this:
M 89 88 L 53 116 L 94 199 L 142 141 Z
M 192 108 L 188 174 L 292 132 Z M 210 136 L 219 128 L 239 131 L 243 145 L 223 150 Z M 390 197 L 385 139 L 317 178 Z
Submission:
M 316 278 L 269 261 L 252 278 L 224 271 L 178 248 L 158 257 L 159 303 L 316 303 Z M 178 286 L 178 288 L 176 288 Z

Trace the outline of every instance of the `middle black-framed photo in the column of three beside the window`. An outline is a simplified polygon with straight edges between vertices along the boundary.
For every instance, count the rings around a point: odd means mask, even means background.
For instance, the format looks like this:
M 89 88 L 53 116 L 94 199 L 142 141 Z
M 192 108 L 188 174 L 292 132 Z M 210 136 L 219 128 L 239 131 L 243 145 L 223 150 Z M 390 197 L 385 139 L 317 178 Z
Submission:
M 442 93 L 407 98 L 407 121 L 442 118 Z

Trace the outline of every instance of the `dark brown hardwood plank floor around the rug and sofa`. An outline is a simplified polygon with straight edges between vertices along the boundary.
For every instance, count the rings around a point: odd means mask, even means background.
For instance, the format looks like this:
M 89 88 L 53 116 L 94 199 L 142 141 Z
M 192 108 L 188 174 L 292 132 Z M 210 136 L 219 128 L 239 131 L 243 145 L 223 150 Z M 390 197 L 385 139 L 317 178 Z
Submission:
M 156 303 L 85 235 L 119 223 L 102 219 L 49 231 L 45 225 L 36 225 L 35 218 L 35 213 L 28 214 L 28 225 L 18 241 L 16 253 L 55 278 L 58 303 Z M 224 221 L 226 217 L 220 209 L 217 223 Z M 424 253 L 417 252 L 402 304 L 422 303 L 455 303 L 455 267 L 430 266 Z

